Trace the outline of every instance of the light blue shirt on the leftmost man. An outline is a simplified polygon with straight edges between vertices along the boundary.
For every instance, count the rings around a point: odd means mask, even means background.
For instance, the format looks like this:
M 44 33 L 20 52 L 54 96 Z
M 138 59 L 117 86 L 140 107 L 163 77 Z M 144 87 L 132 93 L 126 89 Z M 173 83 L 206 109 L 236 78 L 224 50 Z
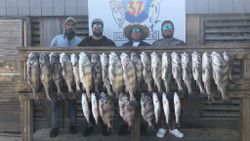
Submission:
M 81 42 L 81 38 L 75 36 L 73 39 L 68 40 L 63 34 L 55 36 L 51 43 L 50 47 L 76 47 Z

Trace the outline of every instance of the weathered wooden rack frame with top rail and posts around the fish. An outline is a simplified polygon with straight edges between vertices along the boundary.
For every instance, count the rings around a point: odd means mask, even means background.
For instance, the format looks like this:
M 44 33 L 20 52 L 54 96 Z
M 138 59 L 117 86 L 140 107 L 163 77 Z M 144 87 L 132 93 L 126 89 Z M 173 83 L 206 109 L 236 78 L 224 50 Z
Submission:
M 229 52 L 234 60 L 240 60 L 241 70 L 240 77 L 233 80 L 233 83 L 229 84 L 228 94 L 230 96 L 241 98 L 241 138 L 242 141 L 250 140 L 250 45 L 233 46 L 233 45 L 220 45 L 220 46 L 178 46 L 178 47 L 78 47 L 78 48 L 49 48 L 49 47 L 20 47 L 17 56 L 21 65 L 21 80 L 17 82 L 17 91 L 20 93 L 21 103 L 21 127 L 22 137 L 24 141 L 31 141 L 33 137 L 33 105 L 31 100 L 33 99 L 29 86 L 26 82 L 26 59 L 30 52 L 42 53 L 42 52 L 65 52 L 65 53 L 79 53 L 84 51 L 87 54 L 90 53 L 109 53 L 109 52 L 187 52 L 193 51 L 202 52 Z M 132 141 L 140 140 L 138 122 L 134 125 L 132 130 Z

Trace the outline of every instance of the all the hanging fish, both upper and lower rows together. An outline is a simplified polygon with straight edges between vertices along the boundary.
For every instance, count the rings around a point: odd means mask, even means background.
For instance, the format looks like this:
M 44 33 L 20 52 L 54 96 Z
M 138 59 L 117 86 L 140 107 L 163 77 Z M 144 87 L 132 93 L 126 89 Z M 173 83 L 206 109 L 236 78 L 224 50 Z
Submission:
M 155 123 L 159 122 L 161 99 L 166 122 L 169 121 L 170 110 L 165 106 L 169 105 L 166 97 L 171 90 L 172 78 L 179 92 L 184 91 L 186 86 L 189 94 L 193 93 L 192 80 L 195 80 L 200 92 L 208 95 L 209 102 L 214 101 L 210 90 L 213 78 L 222 99 L 227 101 L 229 97 L 226 95 L 226 86 L 228 79 L 232 78 L 230 59 L 226 52 L 223 55 L 204 52 L 202 57 L 197 52 L 191 55 L 179 55 L 176 52 L 164 52 L 162 55 L 142 52 L 138 55 L 132 52 L 131 55 L 122 53 L 120 56 L 111 52 L 109 55 L 91 54 L 90 58 L 84 52 L 79 55 L 42 53 L 39 57 L 30 53 L 27 60 L 27 81 L 35 99 L 38 99 L 36 93 L 40 81 L 48 100 L 51 100 L 52 83 L 56 86 L 58 96 L 62 96 L 63 82 L 66 83 L 70 97 L 76 97 L 75 93 L 82 93 L 82 110 L 89 124 L 92 112 L 96 123 L 100 116 L 108 128 L 112 128 L 115 109 L 112 97 L 115 96 L 119 103 L 119 114 L 124 121 L 131 125 L 140 105 L 142 117 L 151 127 L 152 119 L 155 119 Z M 76 87 L 75 91 L 73 85 Z M 146 90 L 142 90 L 144 85 Z M 156 90 L 153 89 L 154 86 Z M 144 91 L 148 93 L 141 94 Z M 141 97 L 140 104 L 136 101 L 138 97 Z M 174 103 L 175 114 L 179 117 L 180 100 L 177 93 L 174 94 Z M 176 118 L 176 123 L 179 123 L 179 118 Z

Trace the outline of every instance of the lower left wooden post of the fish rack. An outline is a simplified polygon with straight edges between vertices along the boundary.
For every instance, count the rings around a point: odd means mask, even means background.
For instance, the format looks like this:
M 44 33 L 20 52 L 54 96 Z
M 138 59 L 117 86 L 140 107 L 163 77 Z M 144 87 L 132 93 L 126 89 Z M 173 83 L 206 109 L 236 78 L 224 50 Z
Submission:
M 29 96 L 19 96 L 21 105 L 21 134 L 23 141 L 33 140 L 33 107 Z

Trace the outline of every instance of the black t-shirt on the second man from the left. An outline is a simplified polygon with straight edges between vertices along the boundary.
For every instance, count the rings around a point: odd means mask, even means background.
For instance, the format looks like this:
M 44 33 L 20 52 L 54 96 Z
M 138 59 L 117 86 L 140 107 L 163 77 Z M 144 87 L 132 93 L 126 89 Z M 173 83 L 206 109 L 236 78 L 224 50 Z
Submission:
M 78 46 L 116 46 L 115 42 L 107 38 L 106 36 L 103 36 L 100 40 L 95 40 L 92 36 L 87 37 L 83 39 Z

